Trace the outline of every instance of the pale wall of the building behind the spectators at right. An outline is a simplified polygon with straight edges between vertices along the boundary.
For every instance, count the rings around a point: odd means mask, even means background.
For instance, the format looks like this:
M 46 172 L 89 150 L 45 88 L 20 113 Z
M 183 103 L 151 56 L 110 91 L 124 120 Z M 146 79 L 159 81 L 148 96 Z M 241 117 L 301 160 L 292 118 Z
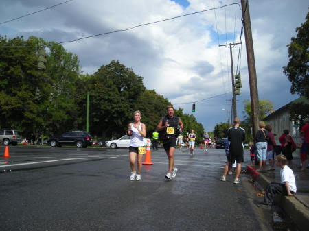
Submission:
M 283 133 L 283 130 L 290 130 L 290 134 L 295 142 L 299 142 L 299 125 L 295 124 L 293 121 L 290 121 L 290 113 L 288 108 L 277 112 L 273 117 L 267 120 L 267 123 L 273 127 L 273 133 L 277 134 L 275 136 L 276 143 L 279 144 L 279 136 Z

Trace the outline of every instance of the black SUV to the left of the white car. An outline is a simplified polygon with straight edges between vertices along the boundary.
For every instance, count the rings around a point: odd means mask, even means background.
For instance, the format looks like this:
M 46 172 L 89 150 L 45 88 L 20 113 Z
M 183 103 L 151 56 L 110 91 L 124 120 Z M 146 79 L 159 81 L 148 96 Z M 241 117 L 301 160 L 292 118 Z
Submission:
M 76 147 L 87 147 L 93 143 L 91 134 L 84 131 L 65 132 L 61 136 L 53 136 L 47 143 L 52 147 L 61 147 L 62 145 L 76 145 Z

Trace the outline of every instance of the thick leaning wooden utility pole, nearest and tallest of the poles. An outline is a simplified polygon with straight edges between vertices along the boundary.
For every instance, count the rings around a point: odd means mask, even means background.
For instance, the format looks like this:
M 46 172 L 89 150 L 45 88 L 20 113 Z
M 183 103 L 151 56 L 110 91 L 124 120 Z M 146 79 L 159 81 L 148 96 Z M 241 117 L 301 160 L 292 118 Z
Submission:
M 251 21 L 248 0 L 242 0 L 242 23 L 244 25 L 244 38 L 246 39 L 247 62 L 249 72 L 249 86 L 251 97 L 251 117 L 253 123 L 253 138 L 258 132 L 258 123 L 260 121 L 258 80 L 255 69 L 255 59 L 253 50 L 253 40 L 251 32 Z

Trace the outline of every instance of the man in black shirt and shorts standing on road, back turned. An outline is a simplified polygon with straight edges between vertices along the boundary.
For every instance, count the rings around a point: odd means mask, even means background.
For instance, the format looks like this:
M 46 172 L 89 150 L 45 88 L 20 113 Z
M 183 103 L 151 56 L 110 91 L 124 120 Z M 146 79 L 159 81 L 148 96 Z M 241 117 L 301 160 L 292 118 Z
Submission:
M 242 168 L 242 162 L 244 162 L 244 145 L 243 141 L 246 138 L 244 129 L 239 126 L 240 119 L 236 117 L 234 119 L 234 126 L 230 127 L 227 131 L 227 138 L 229 139 L 229 157 L 227 162 L 225 162 L 225 170 L 223 172 L 220 180 L 225 181 L 227 176 L 227 171 L 229 170 L 229 165 L 233 162 L 237 162 L 236 168 L 236 178 L 234 179 L 234 184 L 239 183 L 240 170 Z

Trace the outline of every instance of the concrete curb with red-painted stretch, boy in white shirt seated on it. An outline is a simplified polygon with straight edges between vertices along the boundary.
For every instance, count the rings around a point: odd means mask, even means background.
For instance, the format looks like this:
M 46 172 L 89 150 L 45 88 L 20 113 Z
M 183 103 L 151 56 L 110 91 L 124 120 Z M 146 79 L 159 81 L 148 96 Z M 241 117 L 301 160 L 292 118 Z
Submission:
M 247 165 L 247 171 L 252 175 L 253 180 L 257 181 L 263 189 L 266 189 L 267 185 L 271 183 L 266 176 L 255 171 L 252 166 Z M 297 195 L 293 197 L 282 197 L 279 206 L 293 220 L 299 230 L 308 230 L 309 209 L 299 202 Z

